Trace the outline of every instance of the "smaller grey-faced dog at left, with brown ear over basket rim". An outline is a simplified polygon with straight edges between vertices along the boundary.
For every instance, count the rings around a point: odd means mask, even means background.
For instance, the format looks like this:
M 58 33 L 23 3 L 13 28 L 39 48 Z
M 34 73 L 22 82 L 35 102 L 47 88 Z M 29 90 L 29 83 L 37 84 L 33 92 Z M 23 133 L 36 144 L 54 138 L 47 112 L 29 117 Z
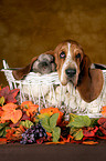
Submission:
M 29 72 L 39 72 L 41 74 L 51 73 L 56 70 L 56 64 L 54 62 L 54 52 L 52 50 L 46 51 L 38 57 L 34 57 L 31 62 L 19 69 L 11 69 L 12 74 L 17 80 L 23 79 Z

